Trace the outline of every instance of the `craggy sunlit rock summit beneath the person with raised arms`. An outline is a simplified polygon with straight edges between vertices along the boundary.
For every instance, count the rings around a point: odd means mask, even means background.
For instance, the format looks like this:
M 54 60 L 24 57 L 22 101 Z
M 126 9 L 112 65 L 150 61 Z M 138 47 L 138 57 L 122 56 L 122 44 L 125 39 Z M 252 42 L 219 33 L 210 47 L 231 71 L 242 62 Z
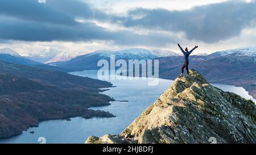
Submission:
M 90 136 L 85 143 L 256 143 L 255 104 L 190 73 L 176 78 L 120 135 Z

